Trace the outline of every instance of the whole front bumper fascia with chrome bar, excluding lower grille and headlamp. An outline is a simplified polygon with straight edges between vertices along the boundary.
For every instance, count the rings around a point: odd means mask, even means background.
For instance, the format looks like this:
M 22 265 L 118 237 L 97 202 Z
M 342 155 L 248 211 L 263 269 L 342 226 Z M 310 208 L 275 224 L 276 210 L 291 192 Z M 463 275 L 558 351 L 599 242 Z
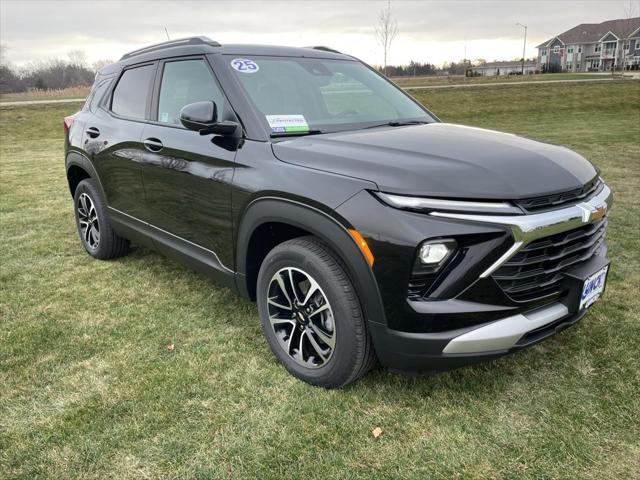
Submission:
M 357 201 L 365 199 L 356 200 L 356 206 Z M 383 207 L 392 215 L 381 213 L 369 217 L 375 219 L 373 224 L 357 225 L 374 250 L 374 274 L 385 306 L 386 324 L 369 322 L 380 362 L 400 370 L 447 370 L 517 351 L 578 322 L 586 313 L 578 310 L 584 279 L 609 263 L 604 242 L 590 258 L 562 269 L 562 294 L 516 301 L 492 274 L 533 242 L 600 221 L 611 202 L 611 191 L 605 186 L 588 201 L 539 214 L 426 215 Z M 348 208 L 343 212 L 354 218 Z M 458 239 L 459 235 L 473 236 L 471 253 L 460 263 L 464 266 L 466 261 L 470 267 L 459 268 L 463 272 L 459 278 L 455 271 L 449 273 L 431 291 L 431 298 L 407 298 L 405 278 L 415 246 L 425 239 Z M 491 253 L 481 252 L 478 245 Z

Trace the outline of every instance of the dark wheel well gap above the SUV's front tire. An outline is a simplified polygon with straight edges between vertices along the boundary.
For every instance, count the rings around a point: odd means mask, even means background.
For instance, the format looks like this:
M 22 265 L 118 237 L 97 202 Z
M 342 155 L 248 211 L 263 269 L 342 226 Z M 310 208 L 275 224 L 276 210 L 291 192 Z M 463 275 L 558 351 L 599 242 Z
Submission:
M 305 235 L 311 235 L 311 233 L 280 222 L 263 223 L 253 231 L 247 247 L 246 264 L 247 291 L 252 300 L 256 299 L 258 272 L 267 254 L 282 242 Z

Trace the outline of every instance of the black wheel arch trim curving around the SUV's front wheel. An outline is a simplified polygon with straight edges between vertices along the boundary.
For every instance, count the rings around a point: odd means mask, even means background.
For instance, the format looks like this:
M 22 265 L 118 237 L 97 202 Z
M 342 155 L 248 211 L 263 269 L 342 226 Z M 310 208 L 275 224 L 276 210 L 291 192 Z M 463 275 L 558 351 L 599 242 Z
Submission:
M 286 198 L 271 196 L 257 198 L 247 205 L 242 215 L 236 236 L 236 283 L 242 295 L 249 296 L 246 267 L 251 236 L 258 227 L 271 222 L 285 223 L 304 229 L 327 243 L 344 262 L 347 273 L 358 292 L 367 320 L 386 324 L 378 284 L 345 224 L 327 212 Z

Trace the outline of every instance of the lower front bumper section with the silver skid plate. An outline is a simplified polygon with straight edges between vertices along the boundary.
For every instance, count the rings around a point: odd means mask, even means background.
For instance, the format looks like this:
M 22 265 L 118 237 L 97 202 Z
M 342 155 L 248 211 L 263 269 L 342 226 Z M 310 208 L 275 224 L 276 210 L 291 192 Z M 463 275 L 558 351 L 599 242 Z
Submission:
M 387 325 L 370 322 L 376 354 L 380 362 L 392 369 L 406 371 L 443 371 L 481 362 L 535 345 L 574 325 L 588 312 L 578 310 L 584 280 L 609 264 L 606 248 L 589 262 L 567 272 L 568 293 L 533 309 L 503 310 L 500 318 L 477 325 L 442 332 L 403 332 Z M 467 315 L 469 311 L 496 308 L 463 300 L 411 302 L 410 307 L 429 311 L 433 318 L 441 315 Z M 517 313 L 516 313 L 517 312 Z

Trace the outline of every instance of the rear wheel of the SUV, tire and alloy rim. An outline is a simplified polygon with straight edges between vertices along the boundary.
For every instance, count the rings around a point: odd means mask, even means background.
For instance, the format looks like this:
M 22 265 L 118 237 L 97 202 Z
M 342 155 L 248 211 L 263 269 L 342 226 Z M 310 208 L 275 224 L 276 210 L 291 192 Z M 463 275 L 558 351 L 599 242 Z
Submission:
M 89 255 L 100 260 L 109 260 L 127 254 L 129 240 L 113 231 L 93 179 L 82 180 L 76 187 L 73 210 L 78 236 Z

